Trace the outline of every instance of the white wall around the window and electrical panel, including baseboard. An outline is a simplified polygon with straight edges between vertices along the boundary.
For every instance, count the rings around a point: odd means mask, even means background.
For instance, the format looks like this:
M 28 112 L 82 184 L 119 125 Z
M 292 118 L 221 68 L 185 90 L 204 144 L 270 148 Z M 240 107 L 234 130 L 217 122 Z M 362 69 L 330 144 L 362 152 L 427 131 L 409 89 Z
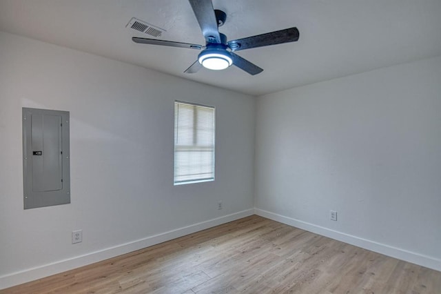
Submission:
M 0 288 L 253 213 L 254 97 L 3 32 L 0 48 Z M 216 106 L 214 182 L 173 186 L 175 99 Z M 23 210 L 22 107 L 70 111 L 71 204 Z

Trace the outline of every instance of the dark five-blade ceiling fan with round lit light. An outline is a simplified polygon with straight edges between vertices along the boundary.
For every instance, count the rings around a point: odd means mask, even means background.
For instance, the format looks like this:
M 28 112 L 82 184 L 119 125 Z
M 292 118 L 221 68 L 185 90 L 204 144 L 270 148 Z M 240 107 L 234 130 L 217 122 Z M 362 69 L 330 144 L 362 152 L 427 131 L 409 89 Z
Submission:
M 280 43 L 289 43 L 298 40 L 297 28 L 287 28 L 285 30 L 277 30 L 262 35 L 227 41 L 227 36 L 219 32 L 218 27 L 222 26 L 227 19 L 227 14 L 221 10 L 214 10 L 211 0 L 189 0 L 193 8 L 194 15 L 198 20 L 202 33 L 205 37 L 205 46 L 191 43 L 181 43 L 174 41 L 165 41 L 158 39 L 145 39 L 133 37 L 135 43 L 181 47 L 202 50 L 198 55 L 198 59 L 187 68 L 185 73 L 194 73 L 201 67 L 210 70 L 223 70 L 231 65 L 237 66 L 241 70 L 245 70 L 250 75 L 257 75 L 263 69 L 254 63 L 243 59 L 234 53 L 238 50 L 249 48 L 257 48 Z

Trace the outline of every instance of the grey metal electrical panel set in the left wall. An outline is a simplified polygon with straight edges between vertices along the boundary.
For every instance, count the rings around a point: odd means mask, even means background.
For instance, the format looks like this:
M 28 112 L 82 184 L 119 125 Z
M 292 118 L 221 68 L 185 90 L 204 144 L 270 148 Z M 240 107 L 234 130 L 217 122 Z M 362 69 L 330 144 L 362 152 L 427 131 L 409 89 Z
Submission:
M 70 203 L 69 112 L 23 108 L 24 208 Z

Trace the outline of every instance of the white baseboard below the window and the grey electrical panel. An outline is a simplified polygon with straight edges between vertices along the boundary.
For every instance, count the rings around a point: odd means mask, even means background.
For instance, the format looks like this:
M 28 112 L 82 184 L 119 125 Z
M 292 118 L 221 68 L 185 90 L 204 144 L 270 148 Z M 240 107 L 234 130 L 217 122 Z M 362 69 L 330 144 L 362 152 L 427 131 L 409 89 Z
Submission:
M 216 217 L 209 219 L 205 222 L 192 224 L 190 226 L 184 226 L 177 228 L 176 230 L 168 231 L 158 235 L 152 235 L 143 239 L 135 240 L 133 242 L 127 242 L 118 246 L 104 248 L 100 251 L 95 251 L 81 256 L 76 256 L 69 259 L 63 259 L 51 264 L 45 264 L 35 268 L 28 268 L 24 271 L 17 273 L 11 273 L 0 277 L 0 290 L 3 288 L 9 288 L 25 282 L 41 279 L 42 277 L 48 277 L 57 273 L 63 273 L 70 271 L 73 268 L 80 266 L 86 266 L 95 262 L 101 262 L 102 260 L 112 258 L 125 253 L 130 253 L 148 246 L 156 245 L 162 242 L 170 241 L 178 237 L 182 237 L 198 231 L 203 231 L 207 228 L 212 228 L 220 224 L 232 222 L 236 219 L 247 217 L 254 214 L 254 209 L 243 210 L 238 213 L 232 213 L 231 215 L 225 215 L 223 217 Z

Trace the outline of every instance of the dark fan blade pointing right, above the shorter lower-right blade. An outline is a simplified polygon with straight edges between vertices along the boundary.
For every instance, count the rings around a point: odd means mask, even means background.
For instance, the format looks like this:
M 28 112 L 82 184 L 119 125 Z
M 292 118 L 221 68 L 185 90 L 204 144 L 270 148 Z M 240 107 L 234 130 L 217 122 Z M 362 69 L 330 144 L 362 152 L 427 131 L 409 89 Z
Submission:
M 266 34 L 237 39 L 228 42 L 229 48 L 233 51 L 256 48 L 262 46 L 276 45 L 280 43 L 289 43 L 298 40 L 297 28 L 287 28 Z

